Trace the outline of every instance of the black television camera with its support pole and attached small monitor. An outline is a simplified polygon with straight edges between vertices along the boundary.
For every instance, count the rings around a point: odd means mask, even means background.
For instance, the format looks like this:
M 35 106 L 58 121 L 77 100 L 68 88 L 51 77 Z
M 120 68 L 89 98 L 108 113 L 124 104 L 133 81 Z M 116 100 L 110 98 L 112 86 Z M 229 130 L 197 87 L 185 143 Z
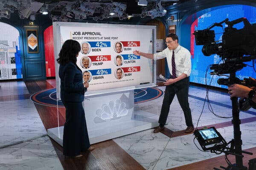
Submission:
M 244 28 L 233 28 L 235 24 L 241 22 L 244 23 Z M 210 29 L 215 26 L 223 27 L 223 23 L 225 23 L 227 27 L 224 28 L 222 42 L 216 43 L 218 41 L 215 41 L 215 32 Z M 202 48 L 202 53 L 205 56 L 217 54 L 223 61 L 221 64 L 212 64 L 210 69 L 213 71 L 210 74 L 218 76 L 221 76 L 222 74 L 230 74 L 228 79 L 218 79 L 218 84 L 231 85 L 237 83 L 247 87 L 253 86 L 250 79 L 240 80 L 236 78 L 236 71 L 246 67 L 244 62 L 249 62 L 256 59 L 256 23 L 250 24 L 249 21 L 244 17 L 233 21 L 225 19 L 220 23 L 213 23 L 212 26 L 204 30 L 196 30 L 193 34 L 195 35 L 196 45 L 204 45 Z M 228 167 L 221 167 L 222 169 L 247 170 L 247 167 L 243 166 L 242 153 L 251 155 L 252 153 L 241 150 L 242 140 L 239 111 L 248 110 L 251 106 L 254 108 L 255 103 L 249 99 L 240 99 L 238 102 L 238 97 L 232 97 L 231 101 L 234 139 L 227 143 L 214 127 L 200 130 L 197 129 L 195 130 L 194 135 L 203 150 L 210 150 L 213 153 L 218 151 L 220 153 L 225 153 L 226 156 L 228 154 L 236 156 L 236 164 L 229 164 Z M 228 144 L 231 146 L 228 147 Z M 220 170 L 218 168 L 214 169 Z M 251 159 L 249 161 L 249 170 L 256 170 L 256 159 Z

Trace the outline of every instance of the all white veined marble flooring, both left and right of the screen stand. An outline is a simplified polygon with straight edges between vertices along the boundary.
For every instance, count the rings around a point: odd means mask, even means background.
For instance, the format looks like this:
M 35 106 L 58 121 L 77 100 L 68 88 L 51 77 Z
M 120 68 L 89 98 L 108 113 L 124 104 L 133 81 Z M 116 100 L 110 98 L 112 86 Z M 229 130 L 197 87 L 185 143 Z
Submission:
M 49 81 L 52 86 L 53 80 Z M 164 91 L 164 87 L 158 87 Z M 61 162 L 46 136 L 46 130 L 37 113 L 37 110 L 28 98 L 8 99 L 5 96 L 28 94 L 24 82 L 3 82 L 0 88 L 0 170 L 61 170 Z M 209 91 L 210 106 L 204 100 L 206 90 L 191 85 L 189 88 L 189 105 L 192 111 L 194 126 L 214 126 L 224 122 L 231 122 L 232 116 L 230 97 L 223 92 Z M 159 111 L 163 96 L 159 99 L 143 102 L 138 107 L 149 113 Z M 160 104 L 157 104 L 160 103 Z M 203 109 L 204 106 L 204 109 Z M 202 111 L 203 110 L 203 111 Z M 202 114 L 201 114 L 202 113 Z M 201 116 L 200 116 L 201 115 Z M 199 119 L 200 117 L 200 119 Z M 256 117 L 254 109 L 242 111 L 240 119 L 247 119 L 241 124 L 242 149 L 256 147 Z M 166 128 L 174 132 L 186 128 L 183 112 L 175 97 L 170 107 Z M 217 129 L 228 142 L 233 139 L 233 126 L 224 126 Z M 146 170 L 167 170 L 185 164 L 191 164 L 205 159 L 216 157 L 214 153 L 201 152 L 192 134 L 169 137 L 163 133 L 152 133 L 148 129 L 113 139 L 132 158 Z M 255 153 L 254 153 L 255 154 Z M 255 156 L 256 157 L 256 156 Z M 234 162 L 233 162 L 234 163 Z

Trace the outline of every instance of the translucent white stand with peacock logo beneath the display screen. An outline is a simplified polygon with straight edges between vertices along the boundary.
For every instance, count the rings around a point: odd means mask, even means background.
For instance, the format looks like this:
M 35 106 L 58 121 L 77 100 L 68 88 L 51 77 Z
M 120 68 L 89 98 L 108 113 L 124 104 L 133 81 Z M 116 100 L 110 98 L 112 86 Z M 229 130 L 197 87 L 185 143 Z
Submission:
M 158 126 L 157 111 L 147 111 L 145 105 L 148 103 L 134 104 L 134 90 L 84 98 L 83 106 L 90 144 Z M 156 105 L 157 103 L 158 100 L 155 100 Z M 63 126 L 48 129 L 47 132 L 62 146 Z

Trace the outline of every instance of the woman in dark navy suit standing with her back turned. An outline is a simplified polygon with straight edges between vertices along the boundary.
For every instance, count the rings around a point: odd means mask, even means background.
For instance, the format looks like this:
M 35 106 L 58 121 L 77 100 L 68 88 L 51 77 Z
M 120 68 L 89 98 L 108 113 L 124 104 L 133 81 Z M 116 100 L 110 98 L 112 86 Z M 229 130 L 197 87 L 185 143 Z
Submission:
M 81 50 L 79 42 L 67 40 L 62 45 L 57 62 L 60 64 L 61 101 L 66 108 L 66 122 L 63 133 L 63 153 L 65 156 L 81 157 L 81 152 L 93 150 L 90 147 L 84 116 L 84 92 L 89 87 L 83 83 L 82 71 L 76 65 Z

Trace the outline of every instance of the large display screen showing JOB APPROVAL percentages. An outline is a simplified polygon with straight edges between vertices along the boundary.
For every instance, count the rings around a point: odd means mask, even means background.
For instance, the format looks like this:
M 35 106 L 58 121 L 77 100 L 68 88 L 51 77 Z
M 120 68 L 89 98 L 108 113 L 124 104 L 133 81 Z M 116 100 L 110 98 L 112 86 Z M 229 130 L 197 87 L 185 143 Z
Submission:
M 155 32 L 155 26 L 55 22 L 55 58 L 64 41 L 80 43 L 76 64 L 90 84 L 86 95 L 156 86 L 154 60 L 133 54 L 153 54 Z

